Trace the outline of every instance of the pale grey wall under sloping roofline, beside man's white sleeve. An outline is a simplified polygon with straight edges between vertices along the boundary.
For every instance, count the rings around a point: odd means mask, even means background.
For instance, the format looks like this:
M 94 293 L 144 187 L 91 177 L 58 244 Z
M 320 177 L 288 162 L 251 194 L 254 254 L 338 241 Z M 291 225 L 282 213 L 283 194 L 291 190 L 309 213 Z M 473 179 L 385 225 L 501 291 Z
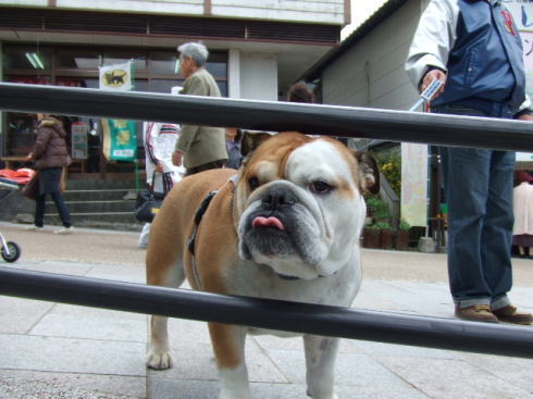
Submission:
M 417 91 L 404 71 L 420 17 L 420 2 L 408 1 L 323 73 L 329 104 L 407 110 Z

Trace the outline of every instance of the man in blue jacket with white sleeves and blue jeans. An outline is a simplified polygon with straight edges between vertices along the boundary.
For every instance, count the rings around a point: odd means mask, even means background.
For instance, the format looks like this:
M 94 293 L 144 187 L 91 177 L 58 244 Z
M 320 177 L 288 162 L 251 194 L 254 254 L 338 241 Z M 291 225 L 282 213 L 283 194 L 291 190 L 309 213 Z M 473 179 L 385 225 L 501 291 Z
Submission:
M 423 91 L 444 85 L 432 112 L 532 121 L 521 39 L 500 0 L 432 0 L 414 34 L 406 71 Z M 512 286 L 515 153 L 443 148 L 448 201 L 448 275 L 460 319 L 531 324 Z

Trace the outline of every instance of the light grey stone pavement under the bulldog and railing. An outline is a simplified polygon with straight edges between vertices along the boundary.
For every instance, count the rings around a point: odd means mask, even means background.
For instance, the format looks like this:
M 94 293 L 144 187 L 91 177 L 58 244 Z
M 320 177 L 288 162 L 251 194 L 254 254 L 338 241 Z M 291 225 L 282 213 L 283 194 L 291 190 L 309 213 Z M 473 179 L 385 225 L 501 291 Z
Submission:
M 0 266 L 145 280 L 136 234 L 22 228 L 0 223 L 23 251 Z M 513 266 L 511 298 L 533 312 L 533 261 Z M 363 250 L 354 307 L 451 317 L 446 257 Z M 0 399 L 216 398 L 206 324 L 172 320 L 170 332 L 174 367 L 148 371 L 146 315 L 0 296 Z M 246 350 L 255 399 L 306 397 L 301 339 L 250 336 Z M 336 379 L 339 399 L 533 398 L 533 360 L 345 339 Z

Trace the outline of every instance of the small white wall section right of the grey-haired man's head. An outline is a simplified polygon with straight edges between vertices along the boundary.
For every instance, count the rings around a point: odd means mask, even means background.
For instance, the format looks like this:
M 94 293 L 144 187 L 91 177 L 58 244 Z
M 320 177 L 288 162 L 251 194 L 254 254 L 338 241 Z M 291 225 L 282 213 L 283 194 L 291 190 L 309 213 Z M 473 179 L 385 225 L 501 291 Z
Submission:
M 240 98 L 277 101 L 276 54 L 240 53 Z

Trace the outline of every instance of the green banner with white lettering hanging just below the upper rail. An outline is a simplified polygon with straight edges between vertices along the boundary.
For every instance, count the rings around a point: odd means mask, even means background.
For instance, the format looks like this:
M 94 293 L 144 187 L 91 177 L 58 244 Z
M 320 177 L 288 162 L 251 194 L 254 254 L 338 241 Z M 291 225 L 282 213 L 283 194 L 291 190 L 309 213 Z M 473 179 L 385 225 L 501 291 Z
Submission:
M 134 121 L 101 120 L 103 155 L 110 161 L 134 161 L 137 158 L 137 129 Z

